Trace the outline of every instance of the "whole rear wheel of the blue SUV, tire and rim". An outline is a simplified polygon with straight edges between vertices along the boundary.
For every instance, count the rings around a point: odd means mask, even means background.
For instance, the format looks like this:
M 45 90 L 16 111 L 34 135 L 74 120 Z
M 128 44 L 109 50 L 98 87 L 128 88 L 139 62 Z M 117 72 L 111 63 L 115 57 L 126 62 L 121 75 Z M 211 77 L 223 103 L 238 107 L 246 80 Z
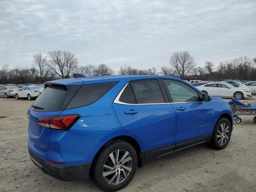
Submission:
M 130 183 L 138 157 L 128 142 L 115 141 L 102 150 L 92 165 L 92 179 L 104 191 L 116 191 Z

